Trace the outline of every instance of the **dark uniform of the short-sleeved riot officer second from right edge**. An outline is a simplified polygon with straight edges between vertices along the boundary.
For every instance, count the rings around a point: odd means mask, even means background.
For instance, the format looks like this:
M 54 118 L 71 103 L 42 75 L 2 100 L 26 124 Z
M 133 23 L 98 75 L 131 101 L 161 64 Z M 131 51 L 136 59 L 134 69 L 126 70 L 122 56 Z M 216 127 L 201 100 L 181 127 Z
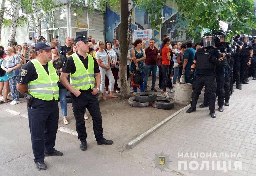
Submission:
M 246 70 L 248 70 L 247 63 L 249 61 L 249 51 L 252 50 L 252 45 L 248 42 L 243 45 L 240 51 L 240 81 L 242 83 L 246 82 Z

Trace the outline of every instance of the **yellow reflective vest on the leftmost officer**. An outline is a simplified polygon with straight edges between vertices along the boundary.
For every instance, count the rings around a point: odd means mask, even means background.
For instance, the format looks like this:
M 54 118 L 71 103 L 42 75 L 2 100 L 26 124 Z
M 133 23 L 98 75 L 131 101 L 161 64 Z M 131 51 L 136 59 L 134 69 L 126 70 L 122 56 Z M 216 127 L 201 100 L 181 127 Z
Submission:
M 37 59 L 33 59 L 30 62 L 34 64 L 38 78 L 28 83 L 28 93 L 35 98 L 46 101 L 50 101 L 53 98 L 58 100 L 59 87 L 57 83 L 59 81 L 59 76 L 57 75 L 52 63 L 48 62 L 48 75 L 42 64 Z

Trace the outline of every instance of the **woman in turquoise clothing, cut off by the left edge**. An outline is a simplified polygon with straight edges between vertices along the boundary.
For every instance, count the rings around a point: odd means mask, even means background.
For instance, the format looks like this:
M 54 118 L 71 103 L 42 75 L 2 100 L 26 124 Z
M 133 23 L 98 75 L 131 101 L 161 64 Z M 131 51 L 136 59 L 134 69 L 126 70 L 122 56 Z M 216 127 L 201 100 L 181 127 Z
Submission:
M 4 50 L 0 50 L 0 67 L 4 61 L 3 56 L 4 56 Z M 3 88 L 4 88 L 4 96 L 2 94 Z M 4 100 L 5 103 L 10 101 L 10 100 L 7 100 L 8 92 L 10 92 L 9 80 L 6 75 L 6 72 L 2 68 L 0 68 L 0 101 Z

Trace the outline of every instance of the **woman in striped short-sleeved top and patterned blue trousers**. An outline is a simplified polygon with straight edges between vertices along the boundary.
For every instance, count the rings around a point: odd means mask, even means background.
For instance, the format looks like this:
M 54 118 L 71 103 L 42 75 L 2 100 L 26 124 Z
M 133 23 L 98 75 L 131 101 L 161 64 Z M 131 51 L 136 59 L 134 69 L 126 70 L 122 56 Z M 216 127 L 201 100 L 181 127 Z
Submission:
M 16 57 L 16 55 L 12 54 L 12 47 L 5 47 L 6 57 L 1 65 L 1 68 L 6 71 L 6 75 L 9 80 L 10 90 L 12 92 L 13 101 L 11 105 L 16 105 L 20 103 L 19 101 L 19 92 L 17 90 L 18 78 L 20 76 L 20 60 Z M 21 70 L 22 71 L 22 70 Z

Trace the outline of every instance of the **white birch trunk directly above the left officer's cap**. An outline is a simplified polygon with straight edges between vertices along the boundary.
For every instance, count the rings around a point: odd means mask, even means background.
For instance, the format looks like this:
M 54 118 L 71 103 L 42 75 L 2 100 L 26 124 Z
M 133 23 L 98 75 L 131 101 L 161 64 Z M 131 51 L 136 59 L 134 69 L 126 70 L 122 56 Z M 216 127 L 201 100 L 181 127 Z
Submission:
M 33 0 L 32 3 L 32 7 L 33 7 L 33 17 L 35 19 L 35 23 L 36 23 L 36 42 L 41 42 L 41 18 L 40 18 L 40 14 L 39 14 L 39 9 L 38 9 L 38 2 L 37 0 Z

